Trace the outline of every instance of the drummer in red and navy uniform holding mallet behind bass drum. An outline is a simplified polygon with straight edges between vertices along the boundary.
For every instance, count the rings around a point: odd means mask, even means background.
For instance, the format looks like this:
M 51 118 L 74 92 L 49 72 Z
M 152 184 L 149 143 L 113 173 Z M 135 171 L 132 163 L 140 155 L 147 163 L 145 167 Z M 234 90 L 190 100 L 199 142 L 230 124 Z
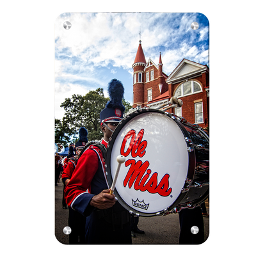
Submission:
M 125 110 L 122 104 L 123 84 L 117 79 L 112 79 L 108 92 L 110 100 L 100 113 L 100 128 L 104 134 L 100 142 L 104 148 L 108 147 L 109 138 L 118 122 L 122 120 Z M 109 246 L 114 243 L 131 246 L 130 215 L 116 202 L 114 194 L 109 195 L 104 153 L 106 154 L 97 145 L 91 145 L 84 151 L 65 188 L 65 200 L 69 207 L 87 217 L 87 246 Z

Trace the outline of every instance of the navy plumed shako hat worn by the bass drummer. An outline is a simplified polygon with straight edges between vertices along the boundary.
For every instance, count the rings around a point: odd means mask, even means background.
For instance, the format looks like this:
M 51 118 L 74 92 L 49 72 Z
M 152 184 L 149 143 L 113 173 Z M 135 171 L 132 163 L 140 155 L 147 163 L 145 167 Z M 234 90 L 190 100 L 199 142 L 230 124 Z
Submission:
M 110 100 L 100 112 L 100 125 L 103 122 L 120 122 L 123 119 L 125 106 L 122 104 L 124 98 L 124 85 L 117 79 L 112 79 L 108 84 Z

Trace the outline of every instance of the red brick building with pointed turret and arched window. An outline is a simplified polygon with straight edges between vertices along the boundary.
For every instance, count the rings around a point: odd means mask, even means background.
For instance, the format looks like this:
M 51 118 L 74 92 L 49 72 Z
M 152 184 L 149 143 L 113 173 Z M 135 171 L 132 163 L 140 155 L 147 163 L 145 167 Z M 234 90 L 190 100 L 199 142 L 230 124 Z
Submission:
M 208 126 L 211 120 L 211 68 L 183 59 L 167 76 L 163 72 L 161 52 L 158 65 L 150 58 L 146 62 L 141 40 L 132 68 L 132 108 L 154 107 L 176 96 L 183 101 L 183 106 L 168 109 L 168 112 L 203 128 Z

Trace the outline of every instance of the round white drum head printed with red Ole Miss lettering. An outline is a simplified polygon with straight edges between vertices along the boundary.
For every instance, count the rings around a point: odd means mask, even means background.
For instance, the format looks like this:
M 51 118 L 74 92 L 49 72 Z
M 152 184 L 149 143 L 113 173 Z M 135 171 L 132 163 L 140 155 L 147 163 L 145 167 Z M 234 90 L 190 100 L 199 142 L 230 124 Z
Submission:
M 126 158 L 114 191 L 124 200 L 125 208 L 152 216 L 173 205 L 184 187 L 189 165 L 188 147 L 179 125 L 163 113 L 141 113 L 125 123 L 113 140 L 108 149 L 112 177 L 116 157 L 123 154 Z

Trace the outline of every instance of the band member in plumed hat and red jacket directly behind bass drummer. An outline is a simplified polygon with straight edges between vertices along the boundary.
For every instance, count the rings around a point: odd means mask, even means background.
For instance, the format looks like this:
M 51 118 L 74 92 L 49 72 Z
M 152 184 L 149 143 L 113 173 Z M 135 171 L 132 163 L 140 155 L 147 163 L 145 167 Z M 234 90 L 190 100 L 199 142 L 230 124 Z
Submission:
M 81 150 L 88 142 L 87 130 L 84 127 L 79 129 L 79 141 L 76 143 L 77 155 L 79 156 Z M 72 152 L 72 146 L 70 146 L 70 152 Z M 70 154 L 71 156 L 71 154 Z M 73 158 L 73 157 L 72 157 Z M 65 186 L 67 186 L 70 181 L 72 174 L 76 168 L 76 159 L 70 158 L 67 167 L 62 174 L 62 181 Z M 66 204 L 66 203 L 65 203 Z M 63 207 L 64 208 L 64 207 Z M 65 209 L 65 208 L 64 208 Z M 67 209 L 67 207 L 66 207 Z M 84 246 L 85 244 L 85 223 L 86 217 L 84 217 L 79 212 L 74 211 L 71 207 L 68 207 L 68 227 L 71 228 L 72 232 L 68 236 L 68 243 L 70 247 Z

